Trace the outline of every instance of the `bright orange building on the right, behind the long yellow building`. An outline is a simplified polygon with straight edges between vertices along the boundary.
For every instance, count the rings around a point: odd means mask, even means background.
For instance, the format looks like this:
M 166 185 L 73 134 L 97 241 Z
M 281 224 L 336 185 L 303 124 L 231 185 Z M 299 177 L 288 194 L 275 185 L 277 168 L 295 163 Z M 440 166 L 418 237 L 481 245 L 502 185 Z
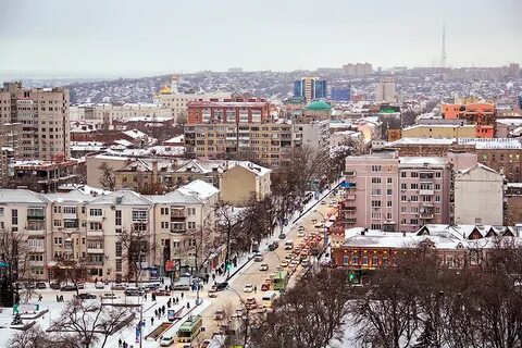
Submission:
M 488 102 L 442 104 L 444 119 L 459 119 L 475 125 L 477 138 L 495 137 L 495 105 Z

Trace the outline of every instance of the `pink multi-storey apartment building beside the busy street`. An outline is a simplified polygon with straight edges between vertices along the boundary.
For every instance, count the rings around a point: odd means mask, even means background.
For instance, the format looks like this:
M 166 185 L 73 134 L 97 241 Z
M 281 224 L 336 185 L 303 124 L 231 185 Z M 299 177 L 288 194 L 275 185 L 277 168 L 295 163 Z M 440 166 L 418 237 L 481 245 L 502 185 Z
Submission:
M 476 156 L 397 157 L 394 152 L 346 159 L 344 227 L 415 232 L 425 224 L 447 224 L 453 170 L 470 167 Z

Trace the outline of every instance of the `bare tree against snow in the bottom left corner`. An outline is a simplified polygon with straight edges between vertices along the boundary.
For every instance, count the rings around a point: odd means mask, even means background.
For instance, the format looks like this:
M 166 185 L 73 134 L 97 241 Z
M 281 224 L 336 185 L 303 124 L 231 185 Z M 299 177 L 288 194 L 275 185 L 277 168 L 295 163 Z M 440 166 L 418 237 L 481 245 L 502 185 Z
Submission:
M 101 306 L 100 303 L 73 299 L 53 322 L 52 331 L 70 334 L 78 347 L 105 347 L 109 336 L 129 326 L 135 313 L 128 307 Z

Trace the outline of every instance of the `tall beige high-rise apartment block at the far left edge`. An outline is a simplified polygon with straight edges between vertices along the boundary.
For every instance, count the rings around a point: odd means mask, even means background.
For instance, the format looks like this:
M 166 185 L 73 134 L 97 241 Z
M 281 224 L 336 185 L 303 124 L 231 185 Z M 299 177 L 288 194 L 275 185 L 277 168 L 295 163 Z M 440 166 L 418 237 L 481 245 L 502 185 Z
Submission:
M 69 89 L 22 88 L 22 83 L 4 83 L 0 89 L 3 124 L 22 124 L 20 153 L 24 159 L 66 159 L 70 151 Z

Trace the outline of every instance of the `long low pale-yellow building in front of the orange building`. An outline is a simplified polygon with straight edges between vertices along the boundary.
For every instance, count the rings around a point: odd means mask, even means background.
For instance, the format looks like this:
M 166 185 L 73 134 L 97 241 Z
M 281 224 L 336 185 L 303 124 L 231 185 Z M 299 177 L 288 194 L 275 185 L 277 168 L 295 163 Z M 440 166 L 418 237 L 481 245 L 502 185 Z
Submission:
M 474 125 L 419 124 L 402 129 L 402 138 L 475 138 Z

